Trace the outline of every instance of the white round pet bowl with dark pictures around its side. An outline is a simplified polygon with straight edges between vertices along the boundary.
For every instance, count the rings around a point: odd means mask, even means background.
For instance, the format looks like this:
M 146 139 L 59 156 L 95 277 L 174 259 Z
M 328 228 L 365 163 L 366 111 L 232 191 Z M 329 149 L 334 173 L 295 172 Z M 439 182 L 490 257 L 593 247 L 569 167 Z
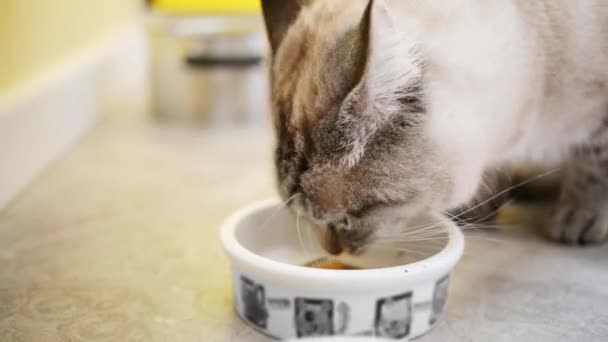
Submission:
M 316 238 L 302 236 L 307 233 L 296 229 L 296 219 L 278 201 L 242 209 L 221 232 L 236 312 L 275 339 L 421 336 L 443 312 L 450 274 L 464 249 L 462 233 L 450 220 L 433 219 L 445 226 L 446 239 L 428 258 L 402 266 L 324 270 L 300 266 L 325 254 L 310 243 Z

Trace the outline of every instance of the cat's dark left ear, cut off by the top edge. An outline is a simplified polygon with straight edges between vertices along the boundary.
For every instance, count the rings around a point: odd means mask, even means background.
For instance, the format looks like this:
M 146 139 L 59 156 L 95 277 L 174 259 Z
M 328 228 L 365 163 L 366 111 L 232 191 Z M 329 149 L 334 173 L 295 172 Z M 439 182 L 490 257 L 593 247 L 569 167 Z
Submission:
M 276 52 L 285 33 L 300 14 L 305 0 L 262 0 L 262 12 L 272 52 Z

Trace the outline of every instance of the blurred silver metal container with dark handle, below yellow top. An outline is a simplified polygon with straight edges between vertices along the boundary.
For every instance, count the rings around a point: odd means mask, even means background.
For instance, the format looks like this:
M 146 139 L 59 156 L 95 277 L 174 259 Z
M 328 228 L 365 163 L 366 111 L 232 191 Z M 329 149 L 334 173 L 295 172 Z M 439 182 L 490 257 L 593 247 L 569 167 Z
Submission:
M 157 17 L 149 27 L 156 117 L 213 126 L 265 121 L 269 96 L 261 17 Z

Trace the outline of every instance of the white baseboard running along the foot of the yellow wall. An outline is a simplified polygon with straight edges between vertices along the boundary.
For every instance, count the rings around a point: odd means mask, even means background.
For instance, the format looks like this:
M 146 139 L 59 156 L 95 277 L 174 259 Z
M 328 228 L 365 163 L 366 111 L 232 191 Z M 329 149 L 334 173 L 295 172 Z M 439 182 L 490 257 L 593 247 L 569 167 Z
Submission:
M 140 31 L 120 30 L 0 94 L 0 210 L 116 106 L 130 76 L 115 62 L 132 55 Z

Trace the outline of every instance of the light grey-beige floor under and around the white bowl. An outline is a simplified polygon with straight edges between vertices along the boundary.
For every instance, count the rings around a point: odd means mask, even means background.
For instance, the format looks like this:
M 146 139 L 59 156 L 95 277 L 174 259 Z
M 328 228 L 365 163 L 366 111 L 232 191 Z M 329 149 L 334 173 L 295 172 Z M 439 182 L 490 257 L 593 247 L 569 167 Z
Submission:
M 274 194 L 270 144 L 102 123 L 0 212 L 0 340 L 266 341 L 234 317 L 217 233 Z M 534 226 L 541 211 L 503 217 Z M 447 316 L 420 341 L 608 341 L 608 245 L 467 234 Z

